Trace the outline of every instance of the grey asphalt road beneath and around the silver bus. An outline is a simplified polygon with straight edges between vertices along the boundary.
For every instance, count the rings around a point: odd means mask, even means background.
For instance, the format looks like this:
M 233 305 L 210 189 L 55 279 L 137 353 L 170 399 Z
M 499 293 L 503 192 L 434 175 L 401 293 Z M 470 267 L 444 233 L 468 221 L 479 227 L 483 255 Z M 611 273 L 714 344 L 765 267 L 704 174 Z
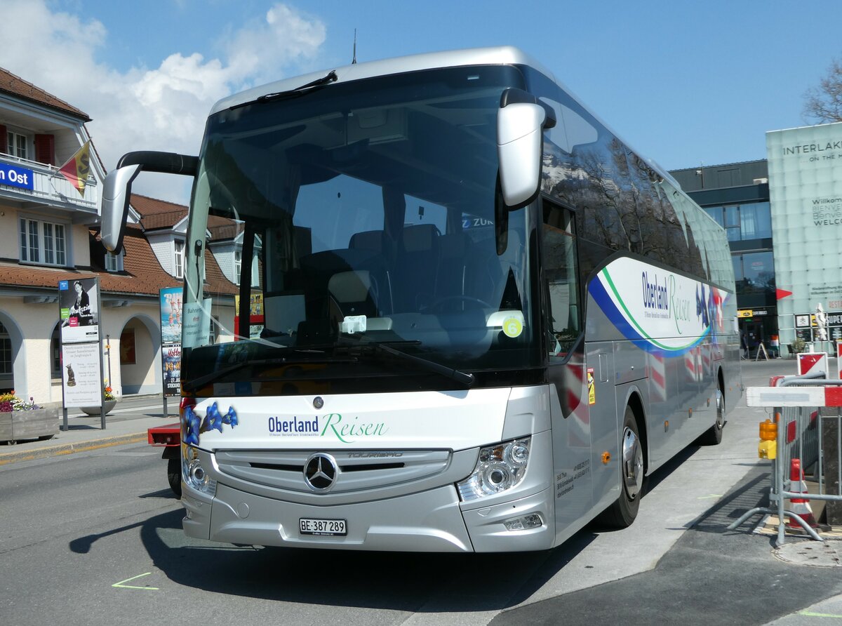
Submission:
M 746 381 L 763 384 L 773 369 L 754 367 Z M 738 406 L 721 446 L 688 448 L 654 475 L 631 528 L 588 528 L 536 554 L 188 540 L 165 462 L 143 444 L 2 466 L 0 621 L 827 623 L 799 612 L 842 592 L 842 568 L 786 563 L 769 537 L 725 531 L 764 499 L 761 411 Z

